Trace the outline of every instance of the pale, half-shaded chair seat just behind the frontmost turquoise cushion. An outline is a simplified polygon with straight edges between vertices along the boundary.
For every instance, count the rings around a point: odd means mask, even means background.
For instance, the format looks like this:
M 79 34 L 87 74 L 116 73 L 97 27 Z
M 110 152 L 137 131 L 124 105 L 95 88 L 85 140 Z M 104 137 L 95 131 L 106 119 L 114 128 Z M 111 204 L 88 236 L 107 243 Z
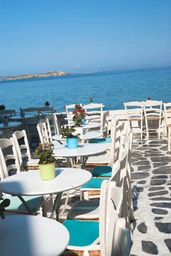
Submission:
M 100 201 L 78 201 L 67 214 L 68 219 L 98 219 Z

